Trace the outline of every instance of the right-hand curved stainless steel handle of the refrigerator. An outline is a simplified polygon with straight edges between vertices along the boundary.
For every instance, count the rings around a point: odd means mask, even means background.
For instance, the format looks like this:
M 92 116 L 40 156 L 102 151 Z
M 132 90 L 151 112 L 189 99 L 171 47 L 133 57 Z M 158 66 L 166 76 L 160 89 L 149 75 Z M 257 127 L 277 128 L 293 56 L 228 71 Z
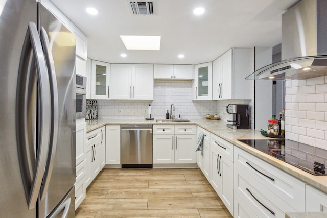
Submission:
M 58 86 L 57 86 L 54 59 L 51 52 L 48 33 L 45 31 L 43 27 L 41 28 L 41 43 L 43 45 L 46 65 L 48 66 L 48 74 L 50 80 L 50 95 L 51 95 L 51 131 L 50 131 L 49 154 L 47 158 L 48 161 L 46 163 L 46 168 L 44 171 L 43 184 L 41 186 L 41 191 L 40 191 L 40 197 L 41 200 L 43 200 L 46 195 L 46 192 L 48 191 L 53 164 L 54 164 L 54 156 L 56 154 L 56 148 L 57 148 L 57 138 L 58 138 L 58 129 L 59 129 L 59 101 L 58 101 Z

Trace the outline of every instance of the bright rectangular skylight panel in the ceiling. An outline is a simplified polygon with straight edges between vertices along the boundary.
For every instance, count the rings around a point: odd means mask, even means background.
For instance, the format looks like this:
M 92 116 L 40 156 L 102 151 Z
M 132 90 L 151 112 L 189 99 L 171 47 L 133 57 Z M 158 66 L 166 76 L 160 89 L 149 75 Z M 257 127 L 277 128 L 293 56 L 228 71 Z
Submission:
M 161 36 L 120 36 L 127 50 L 160 50 Z

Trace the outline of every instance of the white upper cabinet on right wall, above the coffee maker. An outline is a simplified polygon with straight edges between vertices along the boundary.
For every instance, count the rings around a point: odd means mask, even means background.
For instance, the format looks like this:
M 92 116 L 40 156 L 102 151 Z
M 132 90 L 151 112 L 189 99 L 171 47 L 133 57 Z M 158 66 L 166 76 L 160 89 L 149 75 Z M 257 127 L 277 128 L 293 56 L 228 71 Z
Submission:
M 213 62 L 213 100 L 251 99 L 252 49 L 230 49 Z

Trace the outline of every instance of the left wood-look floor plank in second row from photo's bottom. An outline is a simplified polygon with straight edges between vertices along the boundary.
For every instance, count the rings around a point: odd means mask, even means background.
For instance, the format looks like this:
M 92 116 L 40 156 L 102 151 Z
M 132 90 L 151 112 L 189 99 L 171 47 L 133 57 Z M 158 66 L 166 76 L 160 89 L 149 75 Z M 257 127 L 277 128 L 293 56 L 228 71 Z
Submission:
M 125 198 L 125 199 L 89 199 L 85 198 L 80 205 L 85 210 L 136 210 L 147 209 L 148 199 L 146 198 Z

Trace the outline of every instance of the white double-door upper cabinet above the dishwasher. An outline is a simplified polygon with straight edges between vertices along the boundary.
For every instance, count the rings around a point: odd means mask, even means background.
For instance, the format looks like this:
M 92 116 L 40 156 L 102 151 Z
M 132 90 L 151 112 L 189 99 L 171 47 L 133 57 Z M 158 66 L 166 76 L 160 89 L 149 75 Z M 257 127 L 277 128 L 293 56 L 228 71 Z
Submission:
M 111 99 L 153 99 L 153 64 L 111 64 Z

